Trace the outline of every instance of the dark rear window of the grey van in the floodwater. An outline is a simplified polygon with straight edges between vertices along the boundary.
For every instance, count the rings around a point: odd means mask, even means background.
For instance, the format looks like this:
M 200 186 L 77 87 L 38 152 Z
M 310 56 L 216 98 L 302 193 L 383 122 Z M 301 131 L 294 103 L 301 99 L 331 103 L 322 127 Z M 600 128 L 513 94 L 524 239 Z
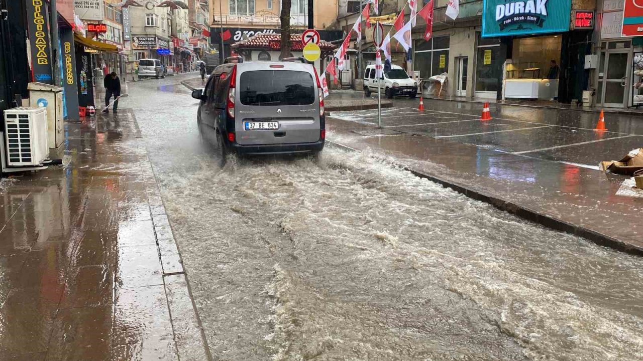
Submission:
M 305 71 L 246 71 L 241 73 L 239 91 L 243 105 L 311 105 L 315 102 L 315 82 Z

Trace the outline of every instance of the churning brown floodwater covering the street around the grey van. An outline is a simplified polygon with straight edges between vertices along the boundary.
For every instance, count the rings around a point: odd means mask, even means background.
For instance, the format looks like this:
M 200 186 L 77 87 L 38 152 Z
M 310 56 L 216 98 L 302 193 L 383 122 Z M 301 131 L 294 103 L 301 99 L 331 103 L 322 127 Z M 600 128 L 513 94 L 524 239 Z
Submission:
M 215 359 L 643 358 L 641 258 L 379 155 L 329 147 L 319 160 L 221 168 L 183 79 L 131 84 L 122 106 L 136 114 Z

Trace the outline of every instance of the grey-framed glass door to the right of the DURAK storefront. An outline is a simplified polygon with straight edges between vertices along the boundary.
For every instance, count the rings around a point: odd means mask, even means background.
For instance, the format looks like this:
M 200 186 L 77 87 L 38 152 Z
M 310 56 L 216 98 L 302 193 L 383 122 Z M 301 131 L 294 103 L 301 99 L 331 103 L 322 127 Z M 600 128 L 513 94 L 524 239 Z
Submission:
M 627 107 L 628 75 L 630 68 L 630 53 L 605 53 L 604 73 L 599 80 L 599 89 L 604 107 Z

